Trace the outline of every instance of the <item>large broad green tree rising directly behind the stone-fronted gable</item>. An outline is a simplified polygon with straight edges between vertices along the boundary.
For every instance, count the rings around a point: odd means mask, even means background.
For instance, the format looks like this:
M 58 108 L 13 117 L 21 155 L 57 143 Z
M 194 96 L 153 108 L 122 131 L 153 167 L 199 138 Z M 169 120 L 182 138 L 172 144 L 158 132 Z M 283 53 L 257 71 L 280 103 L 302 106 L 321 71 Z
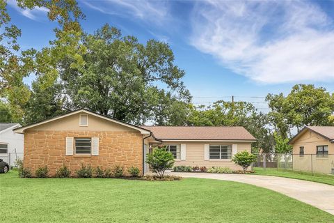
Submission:
M 189 102 L 189 91 L 181 81 L 184 70 L 174 65 L 166 43 L 148 40 L 143 45 L 108 24 L 94 34 L 85 34 L 81 42 L 87 49 L 84 66 L 71 66 L 71 58 L 61 63 L 68 107 L 84 107 L 136 124 L 169 124 L 166 112 L 164 119 L 162 113 L 156 115 L 158 110 L 175 101 L 184 106 Z

